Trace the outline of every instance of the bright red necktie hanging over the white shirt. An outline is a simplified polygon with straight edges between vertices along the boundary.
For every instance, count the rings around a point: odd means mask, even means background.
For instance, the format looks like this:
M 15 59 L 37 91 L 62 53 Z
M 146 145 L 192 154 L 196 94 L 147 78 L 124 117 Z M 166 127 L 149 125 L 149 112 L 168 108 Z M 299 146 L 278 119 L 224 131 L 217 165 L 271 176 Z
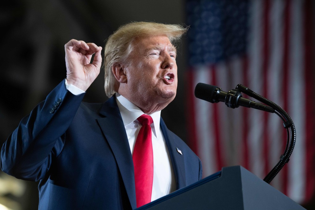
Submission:
M 138 133 L 132 159 L 135 168 L 137 208 L 151 202 L 153 184 L 152 117 L 141 115 L 138 121 L 142 127 Z

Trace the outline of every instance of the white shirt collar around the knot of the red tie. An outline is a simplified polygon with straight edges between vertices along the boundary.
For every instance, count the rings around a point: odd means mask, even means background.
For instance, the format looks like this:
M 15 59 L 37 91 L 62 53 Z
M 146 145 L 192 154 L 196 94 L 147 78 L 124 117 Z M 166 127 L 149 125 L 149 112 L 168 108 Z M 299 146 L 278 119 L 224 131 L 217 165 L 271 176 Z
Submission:
M 116 102 L 121 114 L 121 117 L 123 119 L 123 125 L 126 127 L 130 123 L 134 122 L 138 117 L 144 114 L 143 111 L 140 110 L 138 106 L 130 102 L 128 99 L 123 97 L 122 95 L 116 93 Z M 161 111 L 154 112 L 150 114 L 150 116 L 153 119 L 153 133 L 158 138 L 158 133 L 155 129 L 160 128 L 160 117 L 161 117 Z

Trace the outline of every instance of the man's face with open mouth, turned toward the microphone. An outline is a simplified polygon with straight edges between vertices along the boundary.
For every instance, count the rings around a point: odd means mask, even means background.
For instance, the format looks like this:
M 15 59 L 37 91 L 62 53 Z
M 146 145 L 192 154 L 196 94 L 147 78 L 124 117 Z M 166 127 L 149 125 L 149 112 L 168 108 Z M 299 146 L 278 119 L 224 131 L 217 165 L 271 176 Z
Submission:
M 176 95 L 176 49 L 166 36 L 139 38 L 124 71 L 127 95 L 145 102 L 171 102 Z M 135 103 L 136 104 L 136 103 Z M 136 104 L 137 105 L 137 104 Z

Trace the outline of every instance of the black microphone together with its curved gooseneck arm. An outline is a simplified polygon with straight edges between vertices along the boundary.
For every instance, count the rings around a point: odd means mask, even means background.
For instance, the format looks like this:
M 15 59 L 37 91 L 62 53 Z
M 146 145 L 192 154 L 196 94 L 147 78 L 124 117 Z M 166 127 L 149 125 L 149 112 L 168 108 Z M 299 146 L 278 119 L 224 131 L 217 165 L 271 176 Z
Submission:
M 266 105 L 243 98 L 241 92 L 249 95 L 256 100 L 259 100 Z M 209 101 L 210 103 L 218 103 L 220 101 L 224 102 L 228 107 L 233 109 L 239 106 L 245 106 L 249 108 L 268 111 L 277 114 L 283 120 L 284 128 L 287 129 L 288 133 L 287 146 L 284 150 L 284 154 L 280 156 L 280 161 L 278 162 L 278 164 L 264 178 L 264 181 L 269 184 L 272 179 L 279 173 L 279 171 L 284 167 L 284 165 L 289 162 L 289 157 L 291 156 L 295 146 L 296 132 L 291 117 L 277 104 L 262 97 L 259 94 L 256 94 L 254 91 L 241 84 L 238 84 L 235 89 L 224 92 L 221 88 L 218 88 L 217 86 L 198 83 L 195 88 L 195 96 L 199 99 Z

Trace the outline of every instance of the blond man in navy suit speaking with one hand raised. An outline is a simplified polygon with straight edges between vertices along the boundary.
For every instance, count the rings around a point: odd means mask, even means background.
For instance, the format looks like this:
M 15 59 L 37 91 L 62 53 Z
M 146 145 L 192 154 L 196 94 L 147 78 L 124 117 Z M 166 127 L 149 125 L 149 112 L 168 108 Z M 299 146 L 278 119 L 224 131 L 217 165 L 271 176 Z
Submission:
M 21 120 L 1 150 L 4 172 L 39 180 L 39 209 L 135 209 L 201 179 L 199 158 L 160 117 L 176 95 L 172 43 L 185 32 L 179 25 L 151 22 L 115 31 L 105 46 L 110 99 L 104 104 L 82 102 L 100 72 L 102 48 L 74 39 L 65 45 L 66 79 Z M 152 154 L 152 184 L 142 189 L 149 193 L 144 202 L 139 186 L 149 178 L 140 175 L 139 184 L 134 157 L 145 127 L 141 116 L 152 119 L 153 153 L 140 156 L 141 164 Z

